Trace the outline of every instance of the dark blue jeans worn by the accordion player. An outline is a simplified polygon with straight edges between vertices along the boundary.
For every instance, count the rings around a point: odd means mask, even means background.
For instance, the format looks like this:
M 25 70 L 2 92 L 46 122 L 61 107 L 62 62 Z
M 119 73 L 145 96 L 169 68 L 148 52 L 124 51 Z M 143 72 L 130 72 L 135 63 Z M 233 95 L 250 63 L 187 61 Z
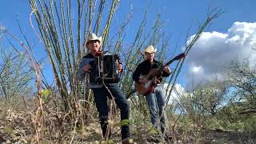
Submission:
M 122 93 L 122 90 L 119 88 L 117 83 L 106 84 L 111 94 L 114 96 L 114 101 L 120 109 L 121 120 L 129 119 L 130 114 L 130 105 Z M 107 95 L 110 95 L 106 87 L 93 88 L 94 92 L 94 102 L 98 110 L 98 117 L 102 127 L 102 134 L 105 138 L 106 128 L 107 128 L 107 117 L 108 117 L 108 106 L 107 106 Z M 130 126 L 121 126 L 122 139 L 130 137 Z

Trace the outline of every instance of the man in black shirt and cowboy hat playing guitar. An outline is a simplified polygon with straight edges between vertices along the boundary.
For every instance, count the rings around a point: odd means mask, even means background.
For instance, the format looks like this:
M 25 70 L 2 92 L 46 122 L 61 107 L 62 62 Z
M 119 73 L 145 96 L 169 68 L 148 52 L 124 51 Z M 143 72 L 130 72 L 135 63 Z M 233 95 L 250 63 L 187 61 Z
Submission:
M 147 76 L 154 69 L 156 70 L 159 67 L 159 62 L 154 59 L 154 54 L 157 49 L 154 49 L 154 46 L 148 46 L 144 50 L 146 60 L 140 63 L 133 74 L 133 79 L 137 84 L 137 90 L 139 94 L 146 96 L 146 101 L 150 107 L 150 120 L 154 127 L 159 130 L 161 128 L 162 134 L 165 134 L 165 138 L 168 138 L 166 135 L 166 111 L 165 111 L 165 91 L 162 86 L 158 83 L 162 81 L 162 77 L 168 77 L 170 75 L 170 69 L 168 66 L 162 66 L 160 75 L 156 78 Z M 146 86 L 152 86 L 154 90 L 147 90 Z M 143 88 L 144 86 L 144 88 Z M 140 87 L 145 89 L 145 92 L 140 93 Z

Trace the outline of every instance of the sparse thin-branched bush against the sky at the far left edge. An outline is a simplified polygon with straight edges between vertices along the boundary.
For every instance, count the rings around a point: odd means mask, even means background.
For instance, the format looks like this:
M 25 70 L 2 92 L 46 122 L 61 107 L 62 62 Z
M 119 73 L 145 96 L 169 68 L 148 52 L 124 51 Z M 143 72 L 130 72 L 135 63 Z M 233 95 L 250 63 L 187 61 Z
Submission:
M 6 43 L 2 42 L 2 46 Z M 10 98 L 31 94 L 31 82 L 34 73 L 28 64 L 25 54 L 19 53 L 14 48 L 0 47 L 0 98 L 10 102 Z M 12 98 L 14 101 L 15 98 Z

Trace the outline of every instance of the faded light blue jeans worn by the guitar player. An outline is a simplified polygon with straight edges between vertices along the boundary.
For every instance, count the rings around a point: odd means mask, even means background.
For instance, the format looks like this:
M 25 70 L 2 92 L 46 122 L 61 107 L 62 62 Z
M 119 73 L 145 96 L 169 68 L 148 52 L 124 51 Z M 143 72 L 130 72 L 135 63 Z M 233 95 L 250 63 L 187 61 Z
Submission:
M 162 86 L 155 86 L 154 91 L 146 95 L 146 101 L 150 107 L 151 123 L 156 129 L 161 128 L 162 134 L 166 130 L 165 95 Z

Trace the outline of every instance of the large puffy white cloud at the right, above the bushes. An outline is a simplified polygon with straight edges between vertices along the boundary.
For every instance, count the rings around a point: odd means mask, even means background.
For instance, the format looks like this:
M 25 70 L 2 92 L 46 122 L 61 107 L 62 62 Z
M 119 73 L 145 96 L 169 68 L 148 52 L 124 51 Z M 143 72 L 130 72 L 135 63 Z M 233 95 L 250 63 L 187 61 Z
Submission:
M 190 37 L 190 40 L 194 36 Z M 190 41 L 189 41 L 190 42 Z M 256 22 L 234 22 L 226 33 L 204 32 L 186 58 L 189 72 L 187 86 L 212 78 L 222 77 L 222 72 L 232 60 L 250 60 L 256 65 Z M 254 48 L 255 49 L 255 48 Z

